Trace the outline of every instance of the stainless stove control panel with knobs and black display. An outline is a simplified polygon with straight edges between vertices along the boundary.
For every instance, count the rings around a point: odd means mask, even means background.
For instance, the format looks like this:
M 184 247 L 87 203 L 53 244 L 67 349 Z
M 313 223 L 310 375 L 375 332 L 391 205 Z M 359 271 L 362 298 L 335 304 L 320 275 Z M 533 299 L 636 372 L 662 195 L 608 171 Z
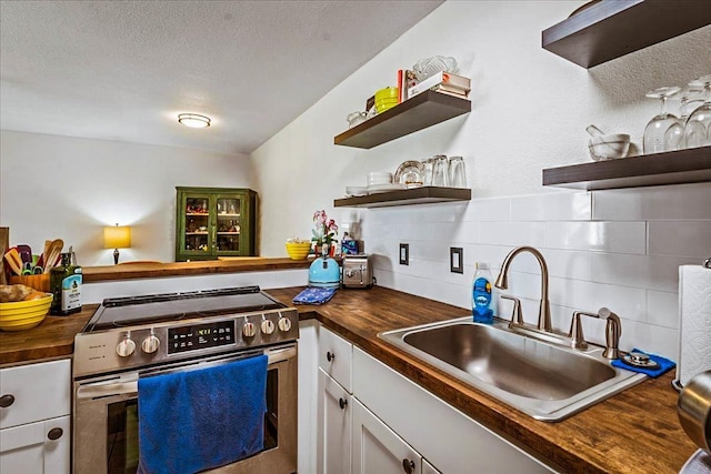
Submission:
M 79 333 L 74 377 L 296 341 L 296 309 Z

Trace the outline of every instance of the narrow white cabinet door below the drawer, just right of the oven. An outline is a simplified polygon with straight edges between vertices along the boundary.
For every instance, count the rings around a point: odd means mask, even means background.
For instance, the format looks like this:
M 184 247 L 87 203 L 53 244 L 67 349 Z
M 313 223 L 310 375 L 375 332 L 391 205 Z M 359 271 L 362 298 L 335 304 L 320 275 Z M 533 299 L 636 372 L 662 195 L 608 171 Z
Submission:
M 319 369 L 318 474 L 351 473 L 351 395 Z

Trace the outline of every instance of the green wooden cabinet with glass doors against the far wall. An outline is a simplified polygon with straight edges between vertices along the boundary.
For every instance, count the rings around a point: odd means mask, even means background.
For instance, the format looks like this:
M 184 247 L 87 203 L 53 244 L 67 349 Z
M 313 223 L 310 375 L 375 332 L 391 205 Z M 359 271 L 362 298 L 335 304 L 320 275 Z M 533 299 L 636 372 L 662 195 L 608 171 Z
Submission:
M 257 193 L 176 188 L 176 261 L 254 255 Z

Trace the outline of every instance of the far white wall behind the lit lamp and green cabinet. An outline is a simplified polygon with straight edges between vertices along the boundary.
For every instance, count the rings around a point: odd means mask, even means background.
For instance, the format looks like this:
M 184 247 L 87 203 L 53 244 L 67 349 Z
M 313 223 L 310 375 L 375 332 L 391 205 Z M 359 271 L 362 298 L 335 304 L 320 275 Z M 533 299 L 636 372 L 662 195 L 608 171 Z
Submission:
M 73 245 L 82 265 L 113 264 L 104 225 L 131 225 L 121 261 L 172 262 L 176 186 L 250 188 L 246 155 L 2 131 L 0 226 L 41 253 Z

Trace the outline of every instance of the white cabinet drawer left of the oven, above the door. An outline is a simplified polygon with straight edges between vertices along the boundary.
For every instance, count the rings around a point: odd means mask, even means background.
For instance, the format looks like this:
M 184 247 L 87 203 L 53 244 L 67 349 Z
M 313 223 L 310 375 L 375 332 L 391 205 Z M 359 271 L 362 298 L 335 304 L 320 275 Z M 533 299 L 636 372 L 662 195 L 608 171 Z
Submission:
M 0 370 L 2 396 L 11 396 L 12 403 L 0 409 L 0 428 L 69 415 L 70 360 Z

